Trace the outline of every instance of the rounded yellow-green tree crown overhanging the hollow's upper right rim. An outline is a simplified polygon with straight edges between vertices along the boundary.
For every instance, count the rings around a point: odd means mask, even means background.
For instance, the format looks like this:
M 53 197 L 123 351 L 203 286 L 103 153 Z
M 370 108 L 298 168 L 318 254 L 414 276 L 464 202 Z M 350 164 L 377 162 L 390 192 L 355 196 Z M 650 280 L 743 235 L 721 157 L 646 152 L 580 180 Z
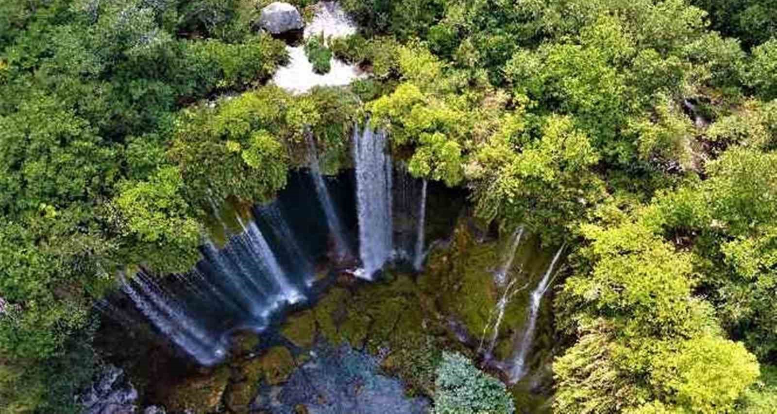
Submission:
M 479 182 L 477 214 L 483 219 L 524 224 L 548 240 L 561 237 L 601 198 L 601 181 L 590 170 L 598 153 L 570 118 L 546 118 L 542 135 L 519 149 L 499 137 L 468 166 Z

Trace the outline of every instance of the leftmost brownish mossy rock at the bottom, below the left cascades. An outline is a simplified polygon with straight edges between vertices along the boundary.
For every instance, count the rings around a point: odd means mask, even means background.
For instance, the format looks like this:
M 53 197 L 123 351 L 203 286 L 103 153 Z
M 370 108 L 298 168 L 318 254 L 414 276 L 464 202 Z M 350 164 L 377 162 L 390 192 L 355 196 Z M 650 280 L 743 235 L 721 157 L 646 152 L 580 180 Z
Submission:
M 217 411 L 230 377 L 229 367 L 218 367 L 207 374 L 186 377 L 168 389 L 164 405 L 169 411 Z

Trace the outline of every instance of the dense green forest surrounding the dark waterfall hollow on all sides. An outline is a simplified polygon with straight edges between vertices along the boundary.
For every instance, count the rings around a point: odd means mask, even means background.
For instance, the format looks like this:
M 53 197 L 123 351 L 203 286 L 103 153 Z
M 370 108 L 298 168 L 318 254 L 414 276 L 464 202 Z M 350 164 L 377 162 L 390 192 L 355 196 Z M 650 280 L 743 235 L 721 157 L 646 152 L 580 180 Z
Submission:
M 359 33 L 306 51 L 369 75 L 301 94 L 269 3 L 0 0 L 0 412 L 78 412 L 120 277 L 192 268 L 211 203 L 272 200 L 308 136 L 352 168 L 366 122 L 566 246 L 554 412 L 777 412 L 777 3 L 341 0 Z M 507 412 L 441 381 L 436 412 Z

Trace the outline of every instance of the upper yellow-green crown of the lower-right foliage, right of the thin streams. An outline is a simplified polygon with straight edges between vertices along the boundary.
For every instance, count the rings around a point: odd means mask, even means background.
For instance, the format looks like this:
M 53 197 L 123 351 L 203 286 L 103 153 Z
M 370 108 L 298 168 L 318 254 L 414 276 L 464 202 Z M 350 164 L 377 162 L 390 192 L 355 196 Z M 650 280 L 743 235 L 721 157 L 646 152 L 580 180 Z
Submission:
M 698 328 L 687 321 L 695 311 L 688 254 L 675 253 L 639 223 L 584 226 L 582 233 L 593 242 L 581 255 L 594 266 L 566 281 L 568 300 L 616 318 L 623 335 L 688 335 Z

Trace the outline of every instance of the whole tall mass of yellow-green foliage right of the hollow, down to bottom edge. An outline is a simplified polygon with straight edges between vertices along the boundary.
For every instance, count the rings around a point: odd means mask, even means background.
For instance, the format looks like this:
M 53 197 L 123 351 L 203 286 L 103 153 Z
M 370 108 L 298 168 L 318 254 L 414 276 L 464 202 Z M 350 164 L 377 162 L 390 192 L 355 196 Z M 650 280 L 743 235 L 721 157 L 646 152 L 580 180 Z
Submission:
M 589 244 L 556 298 L 577 343 L 554 363 L 559 412 L 730 412 L 758 377 L 692 296 L 691 254 L 643 223 L 583 226 Z

